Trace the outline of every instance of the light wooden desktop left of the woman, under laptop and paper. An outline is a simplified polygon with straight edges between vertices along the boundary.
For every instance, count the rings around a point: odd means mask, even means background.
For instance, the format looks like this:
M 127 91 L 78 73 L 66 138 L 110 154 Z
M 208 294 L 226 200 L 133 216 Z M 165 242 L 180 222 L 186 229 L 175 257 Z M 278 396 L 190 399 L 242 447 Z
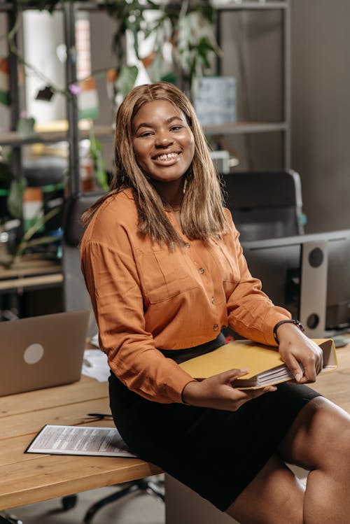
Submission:
M 87 413 L 109 413 L 107 383 L 77 383 L 0 397 L 0 510 L 111 486 L 160 473 L 136 458 L 24 453 L 45 424 L 106 425 Z

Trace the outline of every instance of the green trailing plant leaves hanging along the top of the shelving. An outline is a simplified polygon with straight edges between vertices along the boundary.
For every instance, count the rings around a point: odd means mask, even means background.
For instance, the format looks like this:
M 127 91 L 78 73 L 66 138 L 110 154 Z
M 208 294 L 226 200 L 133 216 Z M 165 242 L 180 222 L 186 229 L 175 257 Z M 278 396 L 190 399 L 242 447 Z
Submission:
M 83 8 L 84 2 L 78 0 L 17 0 L 15 4 L 18 10 L 30 7 L 48 10 L 52 13 L 53 10 L 62 8 L 67 3 L 73 4 L 75 1 L 81 4 L 79 8 Z M 136 66 L 132 68 L 126 66 L 125 41 L 128 31 L 132 34 L 132 45 L 138 59 L 141 59 L 141 52 L 139 52 L 141 41 L 150 35 L 153 38 L 152 49 L 149 53 L 152 57 L 151 64 L 146 64 L 151 82 L 173 71 L 178 78 L 176 83 L 180 84 L 180 87 L 194 98 L 194 92 L 197 90 L 197 85 L 200 84 L 205 69 L 209 69 L 211 54 L 221 52 L 214 35 L 216 9 L 210 1 L 98 0 L 97 5 L 116 22 L 112 48 L 117 58 L 116 69 L 121 69 L 118 79 L 120 97 L 125 97 L 125 94 L 134 87 L 133 77 L 136 75 L 134 69 Z M 150 10 L 156 15 L 149 16 Z M 19 24 L 16 24 L 15 29 L 10 33 L 12 39 L 10 43 L 15 50 L 17 48 L 13 38 L 18 27 Z M 204 45 L 206 40 L 208 45 Z M 172 58 L 168 60 L 165 59 L 163 53 L 167 44 L 172 49 L 169 53 Z M 22 62 L 25 63 L 23 59 Z M 31 69 L 40 76 L 40 71 L 38 72 L 30 64 L 26 65 L 27 69 Z M 128 69 L 125 69 L 126 67 Z M 55 92 L 63 92 L 66 97 L 71 96 L 70 89 L 61 91 L 53 86 L 52 89 Z M 115 99 L 114 96 L 113 99 Z

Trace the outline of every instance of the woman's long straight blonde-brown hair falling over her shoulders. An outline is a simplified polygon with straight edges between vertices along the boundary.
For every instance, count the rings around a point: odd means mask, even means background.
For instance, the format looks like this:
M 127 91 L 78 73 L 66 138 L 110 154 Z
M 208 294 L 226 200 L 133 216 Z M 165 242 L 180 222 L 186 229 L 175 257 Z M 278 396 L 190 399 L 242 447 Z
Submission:
M 189 239 L 207 240 L 221 236 L 228 223 L 223 211 L 223 197 L 218 175 L 209 154 L 209 147 L 195 110 L 178 87 L 167 83 L 139 85 L 134 87 L 120 105 L 116 117 L 115 162 L 116 171 L 111 190 L 98 199 L 82 215 L 86 225 L 102 202 L 111 194 L 132 189 L 139 215 L 139 232 L 152 239 L 166 243 L 183 243 L 164 211 L 164 206 L 151 179 L 144 175 L 135 160 L 132 148 L 132 122 L 141 106 L 154 100 L 166 100 L 179 108 L 186 116 L 195 139 L 193 162 L 186 174 L 186 192 L 181 205 L 181 226 Z

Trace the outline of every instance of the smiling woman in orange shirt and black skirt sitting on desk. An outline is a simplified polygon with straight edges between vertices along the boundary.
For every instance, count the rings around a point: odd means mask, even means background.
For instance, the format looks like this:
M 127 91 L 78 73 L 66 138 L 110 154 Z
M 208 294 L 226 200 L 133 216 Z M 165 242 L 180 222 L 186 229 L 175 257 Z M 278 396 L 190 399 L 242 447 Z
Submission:
M 190 101 L 167 83 L 135 87 L 115 144 L 113 189 L 83 215 L 80 253 L 123 439 L 241 524 L 347 523 L 349 416 L 307 387 L 321 350 L 251 276 Z M 222 346 L 227 325 L 279 341 L 296 383 L 239 390 L 235 362 L 202 381 L 179 366 Z M 285 461 L 311 470 L 305 493 Z

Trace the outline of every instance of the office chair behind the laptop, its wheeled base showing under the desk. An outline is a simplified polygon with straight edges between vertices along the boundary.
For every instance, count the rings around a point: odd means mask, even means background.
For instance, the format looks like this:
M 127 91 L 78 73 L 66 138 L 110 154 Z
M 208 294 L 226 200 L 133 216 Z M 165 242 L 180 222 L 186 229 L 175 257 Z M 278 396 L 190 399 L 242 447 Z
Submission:
M 63 239 L 62 239 L 62 267 L 64 274 L 64 309 L 72 311 L 75 309 L 90 309 L 90 324 L 88 335 L 92 336 L 97 332 L 97 325 L 94 320 L 90 296 L 87 293 L 83 275 L 80 271 L 80 253 L 78 243 L 83 235 L 83 226 L 80 223 L 80 216 L 90 207 L 94 201 L 102 196 L 103 193 L 85 193 L 68 197 L 64 201 L 63 213 Z M 162 481 L 154 481 L 152 477 L 125 482 L 118 485 L 116 493 L 98 500 L 87 510 L 83 522 L 89 524 L 96 512 L 106 504 L 114 502 L 128 493 L 141 490 L 158 497 L 162 502 L 165 500 Z M 62 498 L 63 511 L 73 508 L 76 504 L 77 496 L 69 495 Z M 62 511 L 62 509 L 60 511 Z

